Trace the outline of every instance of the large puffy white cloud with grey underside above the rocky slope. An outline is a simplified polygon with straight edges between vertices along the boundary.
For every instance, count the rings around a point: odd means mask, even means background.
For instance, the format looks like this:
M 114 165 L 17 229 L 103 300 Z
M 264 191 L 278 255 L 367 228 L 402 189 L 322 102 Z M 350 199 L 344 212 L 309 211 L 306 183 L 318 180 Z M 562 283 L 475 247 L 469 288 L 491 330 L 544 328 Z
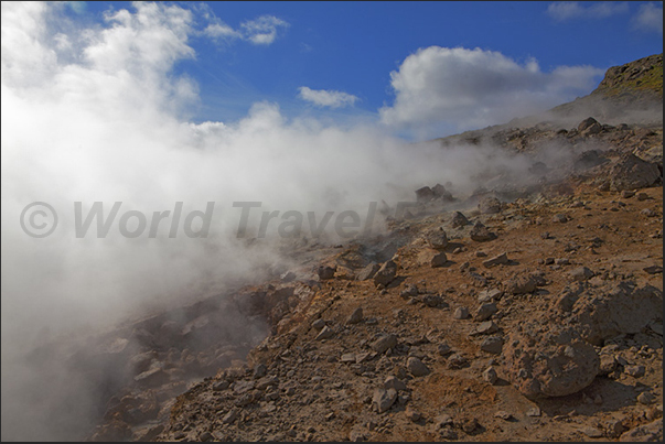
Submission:
M 535 59 L 521 65 L 498 52 L 430 46 L 390 73 L 395 101 L 379 113 L 384 123 L 401 128 L 480 128 L 588 94 L 602 74 L 590 66 L 548 74 Z

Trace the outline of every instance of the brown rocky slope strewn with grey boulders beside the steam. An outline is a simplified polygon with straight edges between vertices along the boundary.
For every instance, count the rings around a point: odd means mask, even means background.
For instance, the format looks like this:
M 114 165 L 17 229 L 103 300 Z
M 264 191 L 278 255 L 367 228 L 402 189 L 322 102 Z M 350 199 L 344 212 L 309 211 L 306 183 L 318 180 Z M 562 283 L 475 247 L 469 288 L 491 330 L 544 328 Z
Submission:
M 525 177 L 417 189 L 382 236 L 293 245 L 269 282 L 99 338 L 127 372 L 90 440 L 662 441 L 662 110 L 569 124 L 572 104 L 437 141 L 525 155 Z

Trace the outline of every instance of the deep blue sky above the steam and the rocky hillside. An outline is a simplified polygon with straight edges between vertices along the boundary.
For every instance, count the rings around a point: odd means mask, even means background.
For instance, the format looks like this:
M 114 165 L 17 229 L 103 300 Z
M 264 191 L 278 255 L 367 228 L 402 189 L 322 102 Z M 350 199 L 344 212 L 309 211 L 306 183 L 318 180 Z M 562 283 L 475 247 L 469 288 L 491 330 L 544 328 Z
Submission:
M 288 116 L 376 117 L 394 104 L 390 73 L 429 46 L 498 52 L 517 64 L 536 59 L 543 73 L 558 66 L 599 69 L 663 51 L 662 2 L 210 2 L 174 3 L 195 11 L 193 28 L 212 20 L 240 30 L 260 17 L 281 25 L 269 44 L 242 37 L 191 35 L 195 59 L 175 64 L 191 76 L 201 100 L 194 121 L 235 120 L 253 102 L 269 100 Z M 103 23 L 109 9 L 129 2 L 94 2 L 78 20 Z M 641 14 L 659 13 L 640 22 Z M 208 18 L 204 19 L 203 14 Z M 646 23 L 646 24 L 645 24 Z M 593 82 L 599 82 L 596 75 Z M 300 98 L 299 88 L 342 91 L 353 105 L 331 109 Z

